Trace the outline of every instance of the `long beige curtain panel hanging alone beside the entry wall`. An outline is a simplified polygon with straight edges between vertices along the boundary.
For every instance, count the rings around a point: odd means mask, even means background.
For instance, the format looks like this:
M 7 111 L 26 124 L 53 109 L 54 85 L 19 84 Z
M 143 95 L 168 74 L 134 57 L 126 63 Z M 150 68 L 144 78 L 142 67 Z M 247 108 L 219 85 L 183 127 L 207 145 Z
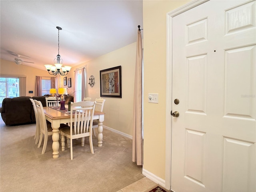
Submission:
M 143 139 L 142 139 L 142 39 L 138 30 L 136 48 L 136 66 L 134 80 L 134 109 L 133 109 L 133 135 L 132 135 L 132 162 L 143 165 Z

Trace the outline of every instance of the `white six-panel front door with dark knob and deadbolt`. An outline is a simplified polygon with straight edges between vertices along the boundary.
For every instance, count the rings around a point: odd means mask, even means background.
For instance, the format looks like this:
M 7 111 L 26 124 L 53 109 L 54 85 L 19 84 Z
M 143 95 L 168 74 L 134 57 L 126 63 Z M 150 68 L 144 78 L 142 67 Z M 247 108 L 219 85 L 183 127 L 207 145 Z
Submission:
M 172 19 L 175 192 L 256 191 L 255 10 L 210 0 Z

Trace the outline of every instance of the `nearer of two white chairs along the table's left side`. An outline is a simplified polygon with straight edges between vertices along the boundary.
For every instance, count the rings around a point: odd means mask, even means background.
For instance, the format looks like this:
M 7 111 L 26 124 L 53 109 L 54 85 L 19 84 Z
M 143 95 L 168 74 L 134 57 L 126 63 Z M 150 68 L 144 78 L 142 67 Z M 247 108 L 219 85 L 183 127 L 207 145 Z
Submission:
M 44 115 L 44 108 L 43 108 L 42 103 L 37 100 L 34 100 L 34 102 L 36 104 L 36 109 L 38 112 L 38 117 L 39 117 L 39 122 L 40 122 L 40 138 L 39 138 L 37 148 L 39 148 L 41 146 L 42 139 L 44 136 L 44 145 L 43 145 L 43 149 L 42 149 L 42 154 L 44 154 L 44 152 L 46 150 L 47 142 L 48 142 L 48 136 L 52 135 L 52 127 L 51 127 L 51 124 L 46 123 L 46 118 Z M 59 133 L 60 133 L 60 131 L 59 131 Z

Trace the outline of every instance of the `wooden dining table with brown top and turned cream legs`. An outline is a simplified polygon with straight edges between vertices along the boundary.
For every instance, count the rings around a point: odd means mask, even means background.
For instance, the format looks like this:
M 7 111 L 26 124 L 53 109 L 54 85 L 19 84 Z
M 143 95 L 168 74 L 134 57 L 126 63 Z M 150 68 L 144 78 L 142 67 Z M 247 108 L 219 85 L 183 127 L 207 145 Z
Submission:
M 59 148 L 60 148 L 60 135 L 59 135 L 59 128 L 60 124 L 70 123 L 70 113 L 66 112 L 65 110 L 58 110 L 52 107 L 43 107 L 44 108 L 44 115 L 46 120 L 51 122 L 52 124 L 52 158 L 56 159 L 59 157 Z M 103 121 L 104 121 L 104 114 L 100 111 L 94 111 L 93 119 L 98 119 L 98 147 L 102 147 L 102 139 L 103 139 Z

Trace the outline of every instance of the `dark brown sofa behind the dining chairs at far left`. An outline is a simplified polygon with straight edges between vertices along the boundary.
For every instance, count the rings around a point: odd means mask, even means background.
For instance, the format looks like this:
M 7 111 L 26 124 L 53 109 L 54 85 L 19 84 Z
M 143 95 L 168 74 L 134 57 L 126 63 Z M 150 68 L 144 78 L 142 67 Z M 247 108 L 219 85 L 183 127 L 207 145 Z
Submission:
M 5 98 L 0 108 L 1 116 L 6 125 L 35 123 L 35 113 L 30 98 L 41 101 L 46 106 L 45 96 L 21 96 Z

